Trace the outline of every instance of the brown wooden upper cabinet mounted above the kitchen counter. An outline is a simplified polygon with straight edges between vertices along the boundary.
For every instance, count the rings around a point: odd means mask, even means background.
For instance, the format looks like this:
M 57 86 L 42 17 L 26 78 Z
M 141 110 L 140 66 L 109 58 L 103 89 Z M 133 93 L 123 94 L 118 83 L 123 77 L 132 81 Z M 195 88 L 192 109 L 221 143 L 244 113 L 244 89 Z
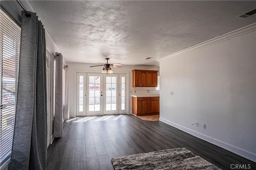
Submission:
M 132 87 L 157 87 L 158 70 L 132 70 Z

